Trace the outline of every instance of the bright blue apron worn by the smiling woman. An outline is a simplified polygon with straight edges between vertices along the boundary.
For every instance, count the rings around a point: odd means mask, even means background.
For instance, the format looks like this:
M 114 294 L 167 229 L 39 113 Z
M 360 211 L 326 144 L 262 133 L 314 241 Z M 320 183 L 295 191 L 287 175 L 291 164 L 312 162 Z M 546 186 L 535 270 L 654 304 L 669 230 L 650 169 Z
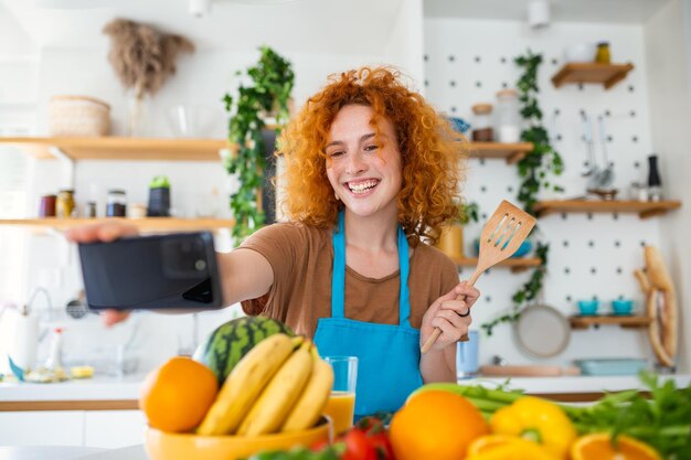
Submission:
M 339 213 L 333 233 L 331 318 L 317 322 L 315 343 L 322 356 L 358 356 L 355 418 L 395 411 L 423 384 L 419 373 L 419 330 L 411 327 L 408 244 L 398 225 L 398 324 L 378 324 L 346 318 L 346 229 Z M 376 306 L 371 306 L 376 308 Z

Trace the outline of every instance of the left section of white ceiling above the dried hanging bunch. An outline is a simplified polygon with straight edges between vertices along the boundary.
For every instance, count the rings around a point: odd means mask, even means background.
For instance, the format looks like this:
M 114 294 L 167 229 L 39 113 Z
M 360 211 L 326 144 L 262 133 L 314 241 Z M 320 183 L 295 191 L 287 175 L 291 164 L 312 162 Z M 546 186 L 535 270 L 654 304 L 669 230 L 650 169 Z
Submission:
M 39 3 L 110 4 L 91 9 L 46 9 Z M 180 33 L 199 49 L 244 50 L 261 44 L 281 52 L 380 51 L 402 0 L 211 0 L 210 14 L 195 18 L 190 0 L 0 0 L 40 47 L 107 46 L 102 29 L 113 18 L 147 22 Z M 3 8 L 4 7 L 4 8 Z

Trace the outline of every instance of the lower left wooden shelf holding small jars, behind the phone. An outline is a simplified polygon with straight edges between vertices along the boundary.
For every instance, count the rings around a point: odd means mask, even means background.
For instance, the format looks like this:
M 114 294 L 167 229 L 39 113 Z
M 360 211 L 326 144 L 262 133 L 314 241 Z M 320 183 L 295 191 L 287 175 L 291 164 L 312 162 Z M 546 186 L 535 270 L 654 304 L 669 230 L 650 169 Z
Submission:
M 145 217 L 145 218 L 24 218 L 24 220 L 0 220 L 1 225 L 14 225 L 35 229 L 53 229 L 64 232 L 68 228 L 104 223 L 121 222 L 135 225 L 140 232 L 199 232 L 214 231 L 221 228 L 232 228 L 235 224 L 233 220 L 222 218 L 177 218 L 177 217 Z

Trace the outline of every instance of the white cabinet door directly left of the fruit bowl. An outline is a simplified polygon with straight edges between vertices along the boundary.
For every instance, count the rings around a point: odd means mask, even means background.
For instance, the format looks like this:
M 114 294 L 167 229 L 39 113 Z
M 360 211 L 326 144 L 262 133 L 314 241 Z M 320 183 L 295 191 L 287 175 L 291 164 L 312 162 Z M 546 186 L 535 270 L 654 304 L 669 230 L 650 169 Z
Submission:
M 115 449 L 140 445 L 146 426 L 140 410 L 87 410 L 84 446 Z

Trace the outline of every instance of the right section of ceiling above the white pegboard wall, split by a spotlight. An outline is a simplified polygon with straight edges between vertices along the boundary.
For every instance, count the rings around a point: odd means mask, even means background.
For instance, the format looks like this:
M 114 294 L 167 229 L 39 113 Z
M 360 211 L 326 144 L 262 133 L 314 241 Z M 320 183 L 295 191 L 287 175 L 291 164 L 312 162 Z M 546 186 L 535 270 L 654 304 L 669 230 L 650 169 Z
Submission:
M 550 0 L 553 21 L 641 24 L 670 0 Z M 425 15 L 525 20 L 530 0 L 424 0 Z

